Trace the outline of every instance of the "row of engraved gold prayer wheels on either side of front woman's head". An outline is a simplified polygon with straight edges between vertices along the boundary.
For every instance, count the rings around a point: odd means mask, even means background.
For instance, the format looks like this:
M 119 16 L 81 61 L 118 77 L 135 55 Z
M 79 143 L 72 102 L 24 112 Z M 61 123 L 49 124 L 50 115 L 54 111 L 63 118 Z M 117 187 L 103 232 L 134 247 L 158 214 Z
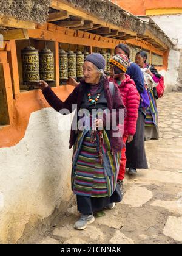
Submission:
M 105 73 L 109 74 L 110 52 L 101 51 L 106 60 Z M 89 55 L 89 52 L 64 51 L 59 49 L 59 77 L 61 82 L 66 82 L 69 77 L 80 80 L 83 77 L 84 59 Z M 33 46 L 28 46 L 22 50 L 22 71 L 24 84 L 31 84 L 39 80 L 46 82 L 54 81 L 54 53 L 45 47 L 38 51 Z

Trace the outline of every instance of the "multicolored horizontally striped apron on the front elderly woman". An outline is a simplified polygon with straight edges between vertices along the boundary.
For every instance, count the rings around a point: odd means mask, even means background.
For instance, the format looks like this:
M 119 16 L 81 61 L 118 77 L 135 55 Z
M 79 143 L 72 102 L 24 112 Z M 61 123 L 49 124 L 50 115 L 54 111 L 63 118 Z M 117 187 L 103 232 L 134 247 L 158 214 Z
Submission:
M 76 195 L 106 197 L 116 188 L 121 153 L 113 155 L 110 152 L 107 133 L 103 133 L 103 165 L 98 157 L 98 143 L 91 142 L 90 131 L 78 133 L 72 169 L 72 189 Z

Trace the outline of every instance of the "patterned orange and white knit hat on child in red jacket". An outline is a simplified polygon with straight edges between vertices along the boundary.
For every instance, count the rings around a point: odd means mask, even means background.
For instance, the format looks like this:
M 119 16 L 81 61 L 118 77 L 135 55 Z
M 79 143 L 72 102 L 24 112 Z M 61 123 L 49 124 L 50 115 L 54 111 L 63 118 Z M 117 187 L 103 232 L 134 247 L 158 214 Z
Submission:
M 109 60 L 109 64 L 112 66 L 116 66 L 119 68 L 123 73 L 126 73 L 127 68 L 129 67 L 129 60 L 126 55 L 117 54 Z

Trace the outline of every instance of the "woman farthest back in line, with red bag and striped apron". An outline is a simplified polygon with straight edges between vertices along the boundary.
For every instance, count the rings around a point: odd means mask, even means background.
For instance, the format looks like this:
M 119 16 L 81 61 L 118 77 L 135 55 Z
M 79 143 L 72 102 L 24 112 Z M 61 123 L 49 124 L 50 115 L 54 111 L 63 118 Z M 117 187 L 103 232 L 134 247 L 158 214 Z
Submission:
M 146 109 L 146 121 L 145 121 L 145 140 L 159 138 L 158 129 L 158 111 L 157 111 L 157 92 L 155 86 L 160 80 L 161 75 L 158 74 L 157 69 L 154 66 L 149 66 L 147 63 L 147 53 L 145 51 L 137 52 L 136 54 L 136 64 L 140 66 L 141 70 L 146 73 L 151 79 L 151 85 L 147 83 L 147 90 L 150 96 L 150 107 Z M 147 82 L 147 79 L 146 79 Z

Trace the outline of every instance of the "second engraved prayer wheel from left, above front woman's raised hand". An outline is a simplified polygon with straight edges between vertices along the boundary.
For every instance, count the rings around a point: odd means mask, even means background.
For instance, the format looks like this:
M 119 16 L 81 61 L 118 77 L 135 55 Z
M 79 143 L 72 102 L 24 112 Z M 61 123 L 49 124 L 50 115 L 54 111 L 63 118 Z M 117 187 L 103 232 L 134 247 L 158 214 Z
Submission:
M 50 49 L 44 48 L 39 52 L 40 79 L 54 81 L 54 54 Z

